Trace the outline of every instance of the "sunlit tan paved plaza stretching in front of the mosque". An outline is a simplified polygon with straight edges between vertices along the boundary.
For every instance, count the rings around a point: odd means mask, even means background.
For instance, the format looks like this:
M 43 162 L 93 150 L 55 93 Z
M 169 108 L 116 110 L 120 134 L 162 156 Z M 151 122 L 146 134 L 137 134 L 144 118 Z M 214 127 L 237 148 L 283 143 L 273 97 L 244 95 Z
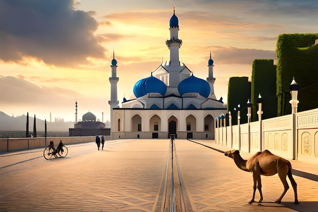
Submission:
M 187 211 L 317 211 L 318 182 L 297 175 L 300 204 L 294 204 L 291 186 L 274 203 L 283 191 L 277 174 L 262 176 L 263 203 L 248 204 L 252 174 L 224 156 L 228 147 L 195 142 L 175 140 Z M 104 150 L 93 142 L 72 144 L 66 158 L 51 160 L 44 159 L 44 148 L 1 153 L 0 211 L 163 211 L 169 144 L 169 139 L 111 140 Z M 318 175 L 316 165 L 291 162 L 299 173 Z

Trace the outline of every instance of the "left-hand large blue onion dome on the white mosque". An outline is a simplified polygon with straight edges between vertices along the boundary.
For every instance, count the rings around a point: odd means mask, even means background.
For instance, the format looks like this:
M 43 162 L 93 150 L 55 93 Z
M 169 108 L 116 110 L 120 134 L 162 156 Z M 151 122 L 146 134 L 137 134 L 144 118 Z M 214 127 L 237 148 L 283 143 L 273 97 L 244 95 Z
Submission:
M 150 77 L 136 82 L 133 91 L 137 98 L 143 97 L 148 93 L 159 93 L 164 96 L 167 91 L 167 85 L 160 79 L 157 79 L 151 75 Z

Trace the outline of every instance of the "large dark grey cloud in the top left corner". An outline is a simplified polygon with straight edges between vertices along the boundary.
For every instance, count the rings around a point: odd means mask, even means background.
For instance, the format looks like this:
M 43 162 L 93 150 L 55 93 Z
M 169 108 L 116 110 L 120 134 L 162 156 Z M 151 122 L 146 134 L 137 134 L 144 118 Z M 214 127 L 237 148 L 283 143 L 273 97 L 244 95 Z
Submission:
M 71 0 L 0 1 L 0 60 L 19 64 L 35 58 L 46 65 L 76 67 L 104 58 L 94 36 L 94 12 L 73 9 Z

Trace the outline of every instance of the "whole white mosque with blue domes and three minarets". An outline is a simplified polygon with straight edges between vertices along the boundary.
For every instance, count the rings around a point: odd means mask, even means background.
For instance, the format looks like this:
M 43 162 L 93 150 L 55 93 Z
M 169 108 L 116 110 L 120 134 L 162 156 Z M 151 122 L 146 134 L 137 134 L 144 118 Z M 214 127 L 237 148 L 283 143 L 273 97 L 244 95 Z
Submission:
M 213 60 L 208 60 L 206 80 L 196 77 L 179 61 L 182 40 L 175 10 L 170 18 L 170 39 L 166 45 L 170 60 L 133 87 L 136 99 L 117 100 L 117 61 L 111 62 L 111 138 L 214 139 L 214 120 L 227 107 L 214 94 Z

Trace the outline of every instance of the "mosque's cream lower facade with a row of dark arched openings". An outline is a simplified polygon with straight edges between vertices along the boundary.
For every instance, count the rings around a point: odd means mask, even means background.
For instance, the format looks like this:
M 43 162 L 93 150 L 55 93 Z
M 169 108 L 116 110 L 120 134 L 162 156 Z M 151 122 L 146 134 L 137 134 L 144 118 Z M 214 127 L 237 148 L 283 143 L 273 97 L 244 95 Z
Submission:
M 136 109 L 114 108 L 111 138 L 214 139 L 214 118 L 225 109 Z

